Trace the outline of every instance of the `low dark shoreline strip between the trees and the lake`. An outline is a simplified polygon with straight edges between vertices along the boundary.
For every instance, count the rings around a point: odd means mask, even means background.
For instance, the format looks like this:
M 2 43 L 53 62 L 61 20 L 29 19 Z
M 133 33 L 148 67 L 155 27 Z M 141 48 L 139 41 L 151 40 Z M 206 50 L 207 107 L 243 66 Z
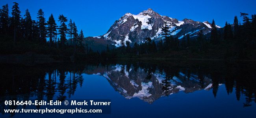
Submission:
M 95 59 L 85 59 L 84 61 L 91 61 Z M 117 61 L 117 60 L 138 60 L 138 61 L 228 61 L 228 62 L 256 62 L 256 60 L 249 59 L 205 59 L 205 58 L 159 58 L 159 57 L 139 57 L 139 58 L 115 58 L 115 59 L 97 59 L 97 60 L 107 60 L 107 61 Z M 0 63 L 6 64 L 46 64 L 46 63 L 72 63 L 74 57 L 66 57 L 65 59 L 59 60 L 54 59 L 51 55 L 45 54 L 10 54 L 10 55 L 0 55 Z M 83 62 L 77 61 L 77 62 Z

